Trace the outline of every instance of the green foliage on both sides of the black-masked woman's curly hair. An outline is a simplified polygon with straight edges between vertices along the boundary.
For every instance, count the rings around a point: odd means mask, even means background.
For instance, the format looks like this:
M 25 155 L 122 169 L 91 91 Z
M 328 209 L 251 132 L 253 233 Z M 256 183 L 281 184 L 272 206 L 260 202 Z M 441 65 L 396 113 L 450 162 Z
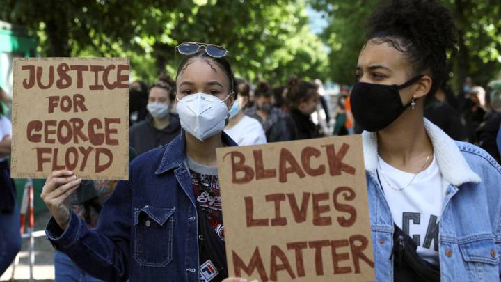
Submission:
M 440 0 L 458 26 L 459 49 L 452 54 L 450 76 L 459 88 L 466 76 L 485 85 L 501 70 L 501 3 L 499 0 Z M 330 15 L 322 38 L 331 47 L 333 81 L 353 84 L 358 53 L 365 42 L 365 19 L 379 0 L 312 0 Z

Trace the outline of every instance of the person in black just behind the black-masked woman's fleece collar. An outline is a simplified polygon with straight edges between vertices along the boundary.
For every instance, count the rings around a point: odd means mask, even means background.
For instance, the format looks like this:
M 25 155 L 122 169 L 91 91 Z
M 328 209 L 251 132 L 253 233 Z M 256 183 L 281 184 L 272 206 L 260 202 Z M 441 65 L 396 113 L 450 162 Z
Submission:
M 431 123 L 434 123 L 447 135 L 454 140 L 466 141 L 466 126 L 461 115 L 447 104 L 445 90 L 447 86 L 444 84 L 438 88 L 435 95 L 427 96 L 424 103 L 424 117 L 428 118 Z

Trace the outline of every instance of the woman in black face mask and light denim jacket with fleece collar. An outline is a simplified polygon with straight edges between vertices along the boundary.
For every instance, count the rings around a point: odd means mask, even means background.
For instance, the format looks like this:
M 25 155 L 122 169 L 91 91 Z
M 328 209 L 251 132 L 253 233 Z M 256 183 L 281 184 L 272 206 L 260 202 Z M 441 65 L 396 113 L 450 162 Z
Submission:
M 363 133 L 378 281 L 499 281 L 501 166 L 423 118 L 456 33 L 436 1 L 368 21 L 351 107 Z M 391 260 L 388 260 L 391 258 Z

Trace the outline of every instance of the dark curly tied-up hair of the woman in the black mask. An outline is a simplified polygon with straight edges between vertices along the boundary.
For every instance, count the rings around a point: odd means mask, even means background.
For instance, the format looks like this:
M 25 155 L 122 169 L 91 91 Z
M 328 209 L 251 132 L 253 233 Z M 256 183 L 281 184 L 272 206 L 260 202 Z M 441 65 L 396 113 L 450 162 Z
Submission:
M 429 73 L 434 94 L 447 77 L 447 51 L 456 45 L 456 26 L 435 0 L 383 0 L 367 19 L 367 42 L 388 43 L 403 52 L 413 76 Z

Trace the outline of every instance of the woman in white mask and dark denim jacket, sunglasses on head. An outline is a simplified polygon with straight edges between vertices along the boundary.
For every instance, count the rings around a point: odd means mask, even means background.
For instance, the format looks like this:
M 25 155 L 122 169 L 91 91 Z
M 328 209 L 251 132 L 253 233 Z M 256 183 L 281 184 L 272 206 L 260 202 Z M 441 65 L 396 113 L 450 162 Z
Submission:
M 216 148 L 235 99 L 223 47 L 184 43 L 177 69 L 182 133 L 134 159 L 95 230 L 63 204 L 81 180 L 54 171 L 42 198 L 53 218 L 47 237 L 82 269 L 105 281 L 221 281 L 228 276 Z

